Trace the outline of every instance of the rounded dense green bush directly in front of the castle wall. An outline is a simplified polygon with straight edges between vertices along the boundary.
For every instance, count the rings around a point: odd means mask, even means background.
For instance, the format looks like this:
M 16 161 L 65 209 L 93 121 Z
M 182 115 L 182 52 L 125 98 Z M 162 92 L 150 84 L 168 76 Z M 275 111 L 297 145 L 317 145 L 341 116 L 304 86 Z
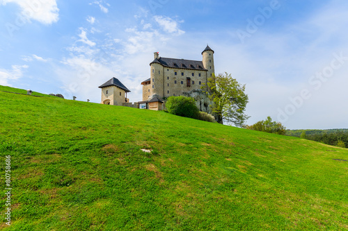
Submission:
M 166 108 L 171 114 L 198 119 L 199 110 L 196 106 L 195 99 L 191 97 L 171 96 L 166 102 Z

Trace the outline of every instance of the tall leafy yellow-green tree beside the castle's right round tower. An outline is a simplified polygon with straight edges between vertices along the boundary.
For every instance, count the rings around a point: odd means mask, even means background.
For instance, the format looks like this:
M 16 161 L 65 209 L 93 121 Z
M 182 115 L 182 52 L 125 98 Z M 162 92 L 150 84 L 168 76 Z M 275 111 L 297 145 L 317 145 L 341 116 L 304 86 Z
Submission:
M 231 74 L 212 75 L 208 78 L 209 99 L 213 101 L 212 111 L 217 115 L 217 121 L 223 120 L 234 123 L 237 127 L 243 127 L 244 122 L 250 118 L 244 111 L 248 103 L 248 95 L 245 94 L 245 85 L 241 85 Z M 205 87 L 202 87 L 204 89 Z

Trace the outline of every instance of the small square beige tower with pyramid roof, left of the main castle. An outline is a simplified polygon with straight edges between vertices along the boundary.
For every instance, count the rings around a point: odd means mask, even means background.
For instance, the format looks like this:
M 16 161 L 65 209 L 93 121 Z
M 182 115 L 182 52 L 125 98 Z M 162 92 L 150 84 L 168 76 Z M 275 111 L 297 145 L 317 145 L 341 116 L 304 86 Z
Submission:
M 122 103 L 129 102 L 127 92 L 130 92 L 117 78 L 111 78 L 101 85 L 102 104 L 122 106 Z

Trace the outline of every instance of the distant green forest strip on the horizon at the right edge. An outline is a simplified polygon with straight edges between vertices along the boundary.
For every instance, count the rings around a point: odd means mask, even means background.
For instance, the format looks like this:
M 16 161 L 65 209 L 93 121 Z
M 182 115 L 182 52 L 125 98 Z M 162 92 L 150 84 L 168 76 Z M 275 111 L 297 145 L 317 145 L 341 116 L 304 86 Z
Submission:
M 285 135 L 348 148 L 348 129 L 287 130 Z

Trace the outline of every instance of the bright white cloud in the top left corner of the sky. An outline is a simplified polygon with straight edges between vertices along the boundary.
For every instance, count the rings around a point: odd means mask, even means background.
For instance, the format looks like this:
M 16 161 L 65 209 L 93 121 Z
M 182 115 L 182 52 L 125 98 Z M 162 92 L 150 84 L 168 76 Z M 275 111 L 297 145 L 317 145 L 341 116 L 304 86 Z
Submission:
M 0 4 L 16 3 L 22 8 L 21 16 L 27 20 L 36 20 L 42 24 L 52 24 L 58 22 L 58 12 L 56 0 L 0 0 Z

